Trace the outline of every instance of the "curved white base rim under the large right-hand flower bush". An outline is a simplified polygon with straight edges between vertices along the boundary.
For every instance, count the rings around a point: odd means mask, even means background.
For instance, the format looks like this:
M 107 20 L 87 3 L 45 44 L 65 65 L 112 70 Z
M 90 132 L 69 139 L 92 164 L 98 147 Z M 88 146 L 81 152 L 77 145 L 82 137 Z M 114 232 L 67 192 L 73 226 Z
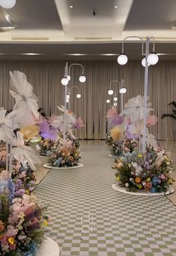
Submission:
M 157 196 L 164 196 L 164 195 L 169 195 L 175 192 L 174 187 L 169 187 L 169 189 L 166 192 L 163 193 L 145 193 L 145 192 L 130 192 L 127 190 L 126 187 L 121 187 L 118 184 L 112 184 L 112 188 L 114 190 L 117 190 L 118 192 L 124 193 L 124 194 L 131 194 L 131 195 L 135 195 L 135 196 L 145 196 L 145 197 L 157 197 Z

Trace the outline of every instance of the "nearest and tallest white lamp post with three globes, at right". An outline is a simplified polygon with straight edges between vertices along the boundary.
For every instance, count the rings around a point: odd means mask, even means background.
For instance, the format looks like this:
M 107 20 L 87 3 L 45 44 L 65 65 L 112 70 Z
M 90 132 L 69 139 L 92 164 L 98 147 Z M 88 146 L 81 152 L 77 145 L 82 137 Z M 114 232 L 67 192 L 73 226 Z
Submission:
M 142 59 L 142 66 L 145 67 L 145 81 L 144 81 L 144 130 L 143 130 L 143 142 L 142 142 L 142 152 L 145 153 L 146 151 L 146 136 L 147 136 L 147 107 L 148 107 L 148 66 L 157 64 L 159 58 L 157 56 L 157 53 L 155 52 L 155 41 L 154 37 L 151 36 L 150 38 L 147 37 L 145 41 L 143 41 L 142 38 L 139 36 L 128 36 L 127 38 L 124 38 L 124 41 L 122 42 L 122 50 L 121 54 L 118 56 L 118 63 L 120 65 L 125 65 L 128 61 L 127 56 L 124 54 L 124 42 L 128 38 L 138 38 L 142 42 L 142 56 L 144 58 Z M 153 50 L 152 53 L 150 53 L 150 42 L 153 41 Z M 144 53 L 144 44 L 145 44 L 145 53 Z

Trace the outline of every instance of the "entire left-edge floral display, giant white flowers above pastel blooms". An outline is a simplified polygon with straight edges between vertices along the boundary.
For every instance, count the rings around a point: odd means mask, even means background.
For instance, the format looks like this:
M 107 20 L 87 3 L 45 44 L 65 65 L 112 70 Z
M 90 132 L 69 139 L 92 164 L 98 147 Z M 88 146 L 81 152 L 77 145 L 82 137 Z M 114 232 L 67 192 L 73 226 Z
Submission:
M 10 87 L 13 111 L 0 109 L 0 255 L 34 256 L 48 221 L 46 208 L 31 193 L 40 163 L 28 147 L 39 133 L 37 97 L 21 72 L 10 72 Z

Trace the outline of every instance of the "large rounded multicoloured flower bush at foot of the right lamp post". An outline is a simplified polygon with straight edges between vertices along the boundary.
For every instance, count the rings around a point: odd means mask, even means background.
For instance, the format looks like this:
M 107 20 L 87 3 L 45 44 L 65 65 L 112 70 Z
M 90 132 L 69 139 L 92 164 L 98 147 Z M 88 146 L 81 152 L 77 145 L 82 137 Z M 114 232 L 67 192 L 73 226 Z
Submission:
M 163 148 L 147 148 L 145 154 L 127 152 L 115 160 L 116 181 L 133 192 L 166 192 L 173 183 L 170 154 Z

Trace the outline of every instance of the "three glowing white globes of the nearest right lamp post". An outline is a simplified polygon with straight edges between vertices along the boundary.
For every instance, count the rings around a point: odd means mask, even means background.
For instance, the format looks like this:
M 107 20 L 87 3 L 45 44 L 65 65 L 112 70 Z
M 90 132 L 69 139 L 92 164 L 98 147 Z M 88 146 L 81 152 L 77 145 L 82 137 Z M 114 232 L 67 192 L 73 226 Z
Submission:
M 156 65 L 159 60 L 159 57 L 157 56 L 157 53 L 150 53 L 147 59 L 146 57 L 142 59 L 142 66 L 144 67 L 145 67 L 146 60 L 148 62 L 148 66 Z M 118 56 L 118 64 L 125 65 L 127 64 L 127 61 L 128 61 L 128 57 L 124 53 L 121 53 L 121 55 Z

